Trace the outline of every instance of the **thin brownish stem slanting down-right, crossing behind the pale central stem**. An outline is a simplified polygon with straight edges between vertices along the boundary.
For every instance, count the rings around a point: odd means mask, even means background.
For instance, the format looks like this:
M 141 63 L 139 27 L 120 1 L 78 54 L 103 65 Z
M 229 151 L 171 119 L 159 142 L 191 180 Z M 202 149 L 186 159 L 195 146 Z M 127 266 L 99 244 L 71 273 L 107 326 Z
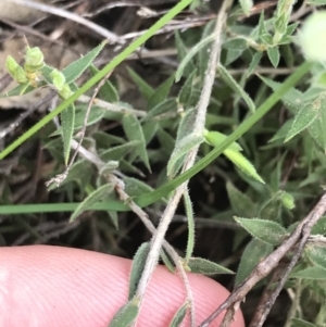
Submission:
M 105 165 L 105 163 L 100 158 L 98 158 L 93 153 L 89 152 L 84 147 L 79 146 L 78 142 L 74 139 L 72 140 L 72 148 L 75 150 L 78 149 L 79 154 L 82 156 L 84 156 L 86 160 L 88 160 L 89 162 L 93 163 L 98 167 L 99 171 Z M 126 202 L 129 205 L 130 210 L 140 218 L 140 221 L 143 223 L 143 225 L 147 227 L 147 229 L 153 235 L 156 231 L 154 225 L 149 219 L 148 214 L 140 206 L 138 206 L 133 200 L 130 200 L 130 197 L 124 191 L 122 180 L 118 179 L 113 174 L 110 174 L 108 177 L 109 177 L 110 181 L 115 186 L 115 190 L 118 193 L 121 200 Z M 191 320 L 195 322 L 193 310 L 192 310 L 193 297 L 192 297 L 192 292 L 191 292 L 191 288 L 190 288 L 190 284 L 189 284 L 187 274 L 185 272 L 185 267 L 181 264 L 181 259 L 176 253 L 174 248 L 172 246 L 170 246 L 170 243 L 167 241 L 164 240 L 163 247 L 166 250 L 166 252 L 171 255 L 173 262 L 175 263 L 178 272 L 181 275 L 181 279 L 184 281 L 186 293 L 187 293 L 187 299 L 188 299 L 188 302 L 190 303 L 190 305 L 189 305 L 190 313 L 191 313 L 190 318 L 191 318 Z

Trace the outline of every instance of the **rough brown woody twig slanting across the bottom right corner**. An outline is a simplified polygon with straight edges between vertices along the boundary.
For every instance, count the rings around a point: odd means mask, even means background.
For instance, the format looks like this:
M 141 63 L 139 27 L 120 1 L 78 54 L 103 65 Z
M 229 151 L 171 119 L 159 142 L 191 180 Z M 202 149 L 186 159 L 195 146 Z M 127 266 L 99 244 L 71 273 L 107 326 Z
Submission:
M 283 244 L 280 244 L 274 252 L 266 256 L 262 262 L 260 262 L 252 273 L 243 280 L 233 293 L 204 320 L 199 327 L 209 326 L 224 310 L 234 305 L 234 303 L 242 301 L 247 293 L 265 276 L 267 276 L 271 271 L 276 267 L 278 262 L 290 251 L 290 249 L 300 240 L 302 237 L 299 249 L 292 260 L 296 260 L 298 254 L 300 256 L 302 249 L 309 239 L 310 231 L 313 225 L 323 216 L 326 211 L 326 193 L 321 198 L 314 209 L 310 214 L 297 226 L 293 232 L 286 239 Z M 303 244 L 303 246 L 302 246 Z M 299 257 L 298 257 L 299 259 Z M 297 259 L 297 260 L 298 260 Z M 288 268 L 291 267 L 292 261 Z

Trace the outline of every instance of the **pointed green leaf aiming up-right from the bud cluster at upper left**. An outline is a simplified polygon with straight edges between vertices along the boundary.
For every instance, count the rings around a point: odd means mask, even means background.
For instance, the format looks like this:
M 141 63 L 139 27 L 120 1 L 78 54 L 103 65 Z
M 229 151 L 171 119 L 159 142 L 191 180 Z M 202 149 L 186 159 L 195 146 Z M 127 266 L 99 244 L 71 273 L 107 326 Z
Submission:
M 88 52 L 86 55 L 67 65 L 62 71 L 65 77 L 65 81 L 70 84 L 77 79 L 90 66 L 92 61 L 98 56 L 98 54 L 101 52 L 105 45 L 106 41 L 103 41 L 98 47 L 93 48 L 90 52 Z

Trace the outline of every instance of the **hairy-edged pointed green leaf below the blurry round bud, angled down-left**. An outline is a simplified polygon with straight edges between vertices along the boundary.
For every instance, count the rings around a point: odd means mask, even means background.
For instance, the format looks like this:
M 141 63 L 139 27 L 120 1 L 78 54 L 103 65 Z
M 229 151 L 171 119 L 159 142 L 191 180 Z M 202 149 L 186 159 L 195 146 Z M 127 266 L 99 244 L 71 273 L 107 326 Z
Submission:
M 293 124 L 287 134 L 285 142 L 308 128 L 317 118 L 319 109 L 319 106 L 314 106 L 312 103 L 305 103 L 294 116 Z

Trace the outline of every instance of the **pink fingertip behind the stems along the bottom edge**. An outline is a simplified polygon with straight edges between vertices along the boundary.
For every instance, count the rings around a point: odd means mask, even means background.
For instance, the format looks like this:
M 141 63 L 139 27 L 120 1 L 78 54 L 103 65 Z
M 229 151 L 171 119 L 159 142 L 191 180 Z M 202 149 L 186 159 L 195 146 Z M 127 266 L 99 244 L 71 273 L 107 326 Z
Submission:
M 35 322 L 42 327 L 108 326 L 127 301 L 129 260 L 47 246 L 0 248 L 0 326 L 28 327 Z M 208 277 L 189 274 L 188 278 L 198 325 L 229 293 Z M 158 267 L 137 326 L 168 326 L 185 299 L 180 277 Z M 189 326 L 189 320 L 183 326 Z M 231 326 L 244 326 L 240 311 Z

